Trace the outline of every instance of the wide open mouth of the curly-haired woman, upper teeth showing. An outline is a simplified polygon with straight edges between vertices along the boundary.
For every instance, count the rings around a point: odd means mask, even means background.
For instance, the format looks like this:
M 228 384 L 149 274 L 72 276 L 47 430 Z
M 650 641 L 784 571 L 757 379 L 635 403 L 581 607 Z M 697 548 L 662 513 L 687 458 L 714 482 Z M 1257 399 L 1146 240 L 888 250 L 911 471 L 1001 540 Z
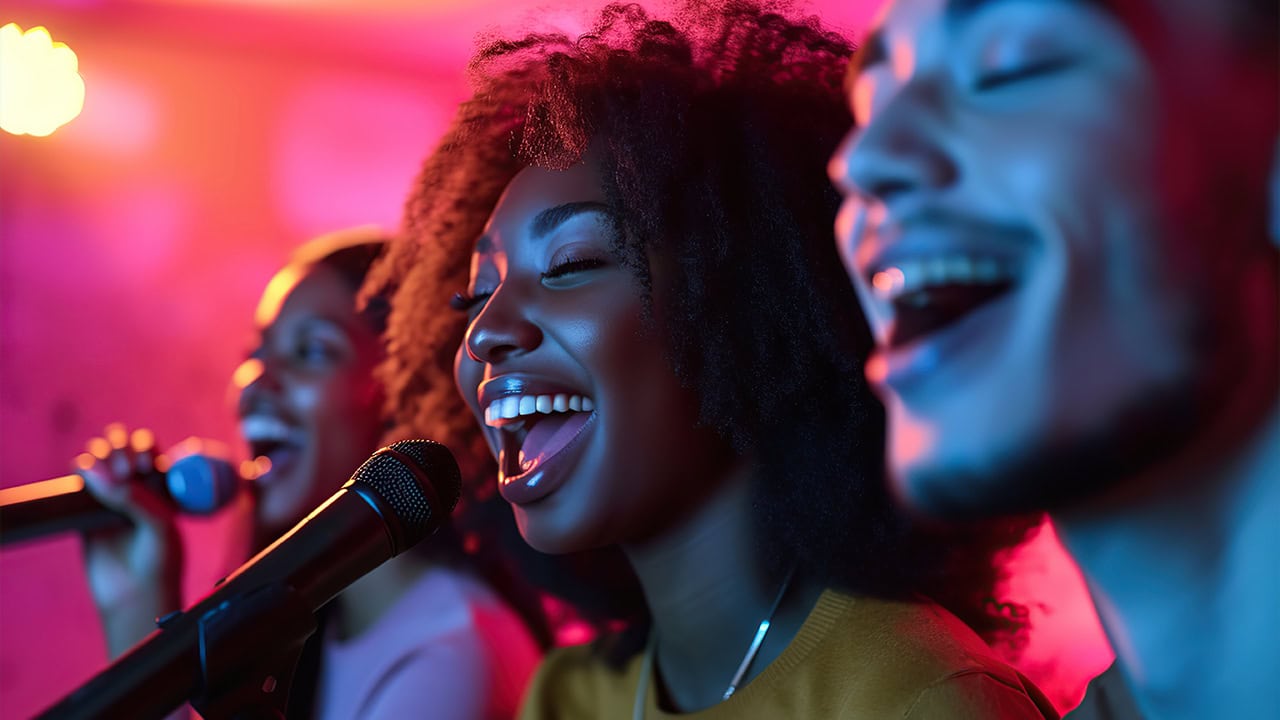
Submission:
M 595 402 L 582 395 L 506 395 L 484 411 L 499 437 L 498 489 L 508 502 L 541 500 L 567 478 L 572 462 L 553 460 L 579 445 L 593 424 Z

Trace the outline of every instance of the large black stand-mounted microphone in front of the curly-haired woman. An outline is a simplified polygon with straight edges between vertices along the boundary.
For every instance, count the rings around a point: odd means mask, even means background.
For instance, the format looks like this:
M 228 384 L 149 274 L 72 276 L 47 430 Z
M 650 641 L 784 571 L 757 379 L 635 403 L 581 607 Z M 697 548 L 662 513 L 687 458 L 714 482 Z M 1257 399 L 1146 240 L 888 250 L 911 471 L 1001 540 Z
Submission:
M 435 532 L 460 493 L 457 462 L 443 445 L 411 439 L 379 450 L 285 536 L 204 600 L 161 618 L 159 630 L 40 717 L 163 717 L 187 700 L 236 688 L 287 696 L 274 670 L 315 630 L 315 611 Z M 237 715 L 205 707 L 196 705 L 205 717 Z

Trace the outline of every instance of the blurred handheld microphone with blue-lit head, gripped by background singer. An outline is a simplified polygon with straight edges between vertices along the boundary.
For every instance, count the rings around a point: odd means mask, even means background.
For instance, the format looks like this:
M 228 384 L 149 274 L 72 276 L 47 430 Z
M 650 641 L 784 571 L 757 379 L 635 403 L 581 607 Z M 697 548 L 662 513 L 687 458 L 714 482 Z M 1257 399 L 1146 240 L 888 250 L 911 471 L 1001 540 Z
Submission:
M 152 486 L 183 512 L 207 515 L 225 506 L 239 488 L 232 464 L 221 457 L 188 455 L 156 475 Z M 125 527 L 129 519 L 108 509 L 79 475 L 0 489 L 0 544 L 67 530 Z

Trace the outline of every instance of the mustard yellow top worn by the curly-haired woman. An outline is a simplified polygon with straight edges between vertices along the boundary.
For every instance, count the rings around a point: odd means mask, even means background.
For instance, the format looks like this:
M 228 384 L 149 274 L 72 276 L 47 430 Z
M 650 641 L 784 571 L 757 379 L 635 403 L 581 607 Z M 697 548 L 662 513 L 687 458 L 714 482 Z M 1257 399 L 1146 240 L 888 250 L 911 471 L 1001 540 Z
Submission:
M 645 656 L 621 670 L 586 646 L 552 652 L 521 720 L 630 720 Z M 685 720 L 1056 720 L 1038 689 L 934 605 L 826 591 L 782 655 L 731 698 L 672 714 L 649 683 L 645 717 Z

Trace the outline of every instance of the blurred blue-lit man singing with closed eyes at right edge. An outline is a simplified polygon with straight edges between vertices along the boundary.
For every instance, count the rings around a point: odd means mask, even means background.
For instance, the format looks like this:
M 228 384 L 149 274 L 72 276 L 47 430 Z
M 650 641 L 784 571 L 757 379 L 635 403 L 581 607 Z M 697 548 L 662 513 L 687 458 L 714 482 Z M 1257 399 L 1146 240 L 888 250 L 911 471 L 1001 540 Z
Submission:
M 1274 0 L 899 0 L 831 167 L 895 489 L 1048 510 L 1151 717 L 1274 712 L 1277 28 Z

